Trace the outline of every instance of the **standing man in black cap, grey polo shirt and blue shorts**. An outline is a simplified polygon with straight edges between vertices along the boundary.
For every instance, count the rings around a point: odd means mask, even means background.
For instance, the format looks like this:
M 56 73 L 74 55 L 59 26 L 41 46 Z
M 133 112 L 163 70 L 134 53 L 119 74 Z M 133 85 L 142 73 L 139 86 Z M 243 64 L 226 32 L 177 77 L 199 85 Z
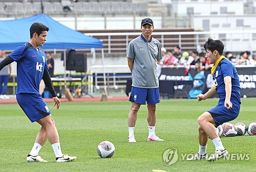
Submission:
M 154 30 L 153 20 L 141 21 L 142 34 L 133 39 L 127 47 L 128 66 L 132 72 L 132 92 L 129 101 L 132 106 L 128 115 L 128 142 L 136 142 L 134 129 L 137 113 L 141 105 L 147 103 L 148 137 L 147 141 L 164 141 L 155 133 L 156 104 L 160 102 L 157 63 L 161 61 L 161 44 L 151 36 Z

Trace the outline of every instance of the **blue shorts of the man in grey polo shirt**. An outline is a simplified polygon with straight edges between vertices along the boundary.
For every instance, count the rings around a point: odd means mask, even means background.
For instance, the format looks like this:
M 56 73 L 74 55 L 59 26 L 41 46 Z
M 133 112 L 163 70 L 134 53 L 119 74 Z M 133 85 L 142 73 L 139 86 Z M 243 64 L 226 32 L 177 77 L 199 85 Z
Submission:
M 145 105 L 146 103 L 149 105 L 155 105 L 160 102 L 159 88 L 132 87 L 129 101 L 142 105 Z

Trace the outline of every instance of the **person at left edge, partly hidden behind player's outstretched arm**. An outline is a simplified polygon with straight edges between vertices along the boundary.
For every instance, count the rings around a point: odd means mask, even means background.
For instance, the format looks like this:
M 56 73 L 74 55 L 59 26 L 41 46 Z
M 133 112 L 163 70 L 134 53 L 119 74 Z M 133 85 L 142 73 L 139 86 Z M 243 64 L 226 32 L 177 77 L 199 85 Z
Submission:
M 1 50 L 0 51 L 0 63 L 5 59 L 5 51 Z M 11 64 L 9 64 L 9 70 L 8 71 L 8 66 L 5 66 L 2 70 L 0 70 L 0 99 L 9 99 L 9 96 L 7 96 L 6 90 L 7 90 L 7 84 L 9 77 L 11 77 Z M 4 84 L 4 86 L 2 85 Z

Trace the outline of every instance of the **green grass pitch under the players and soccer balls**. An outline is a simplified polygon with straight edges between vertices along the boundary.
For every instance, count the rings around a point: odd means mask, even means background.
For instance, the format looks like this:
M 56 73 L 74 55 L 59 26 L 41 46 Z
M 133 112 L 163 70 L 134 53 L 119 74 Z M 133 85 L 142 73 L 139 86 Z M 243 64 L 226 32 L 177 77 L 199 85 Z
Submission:
M 237 119 L 248 125 L 256 122 L 256 99 L 243 99 Z M 166 166 L 163 152 L 176 148 L 179 154 L 198 151 L 197 117 L 217 105 L 212 99 L 198 103 L 196 100 L 168 100 L 157 106 L 156 132 L 164 142 L 148 142 L 146 106 L 141 106 L 135 128 L 137 143 L 127 143 L 127 114 L 129 102 L 62 103 L 59 110 L 48 104 L 55 120 L 62 152 L 77 156 L 69 163 L 56 163 L 50 143 L 47 141 L 39 155 L 47 163 L 28 163 L 39 125 L 31 123 L 17 104 L 0 105 L 0 171 L 256 171 L 255 136 L 222 137 L 229 153 L 249 153 L 248 161 L 216 162 L 183 161 Z M 99 142 L 109 140 L 116 152 L 110 159 L 97 155 Z M 207 153 L 215 152 L 208 141 Z

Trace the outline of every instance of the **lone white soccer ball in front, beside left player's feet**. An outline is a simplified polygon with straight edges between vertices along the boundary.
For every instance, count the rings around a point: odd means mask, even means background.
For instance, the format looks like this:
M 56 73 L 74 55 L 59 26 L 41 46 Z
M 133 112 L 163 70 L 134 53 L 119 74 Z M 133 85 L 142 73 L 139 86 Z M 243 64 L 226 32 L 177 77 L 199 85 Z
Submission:
M 115 146 L 110 141 L 102 141 L 98 145 L 97 152 L 101 158 L 111 158 L 115 153 Z

